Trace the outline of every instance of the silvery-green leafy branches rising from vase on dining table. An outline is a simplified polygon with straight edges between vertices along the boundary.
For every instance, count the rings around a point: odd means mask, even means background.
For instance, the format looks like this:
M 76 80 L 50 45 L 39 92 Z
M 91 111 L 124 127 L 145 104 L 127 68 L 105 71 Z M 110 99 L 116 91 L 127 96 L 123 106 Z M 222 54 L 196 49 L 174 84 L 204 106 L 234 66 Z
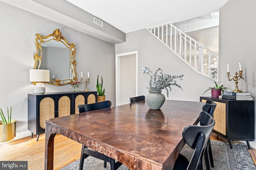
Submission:
M 147 67 L 145 67 L 147 68 Z M 160 72 L 159 72 L 160 71 Z M 183 89 L 179 84 L 177 84 L 177 81 L 175 79 L 182 80 L 183 74 L 180 76 L 172 76 L 170 74 L 163 74 L 162 69 L 158 68 L 155 73 L 153 73 L 151 70 L 149 70 L 148 73 L 150 76 L 149 80 L 149 86 L 147 87 L 150 91 L 161 91 L 163 89 L 166 89 L 167 93 L 166 96 L 169 97 L 169 90 L 171 91 L 171 86 L 177 86 L 182 91 Z M 159 74 L 158 74 L 159 72 Z

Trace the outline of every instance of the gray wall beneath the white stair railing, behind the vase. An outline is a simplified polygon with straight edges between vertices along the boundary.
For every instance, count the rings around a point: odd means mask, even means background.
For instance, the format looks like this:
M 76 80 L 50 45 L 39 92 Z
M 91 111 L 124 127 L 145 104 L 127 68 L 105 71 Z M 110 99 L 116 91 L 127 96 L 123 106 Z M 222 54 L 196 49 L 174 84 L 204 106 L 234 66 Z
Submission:
M 127 33 L 126 42 L 116 45 L 116 54 L 131 51 L 138 51 L 138 96 L 148 93 L 146 87 L 150 76 L 142 73 L 144 66 L 152 72 L 162 68 L 164 74 L 184 74 L 183 80 L 178 80 L 184 91 L 173 86 L 169 98 L 166 99 L 199 101 L 202 93 L 208 87 L 214 86 L 212 79 L 194 71 L 147 29 Z M 166 90 L 162 90 L 162 93 L 166 95 Z M 210 92 L 206 96 L 210 96 Z

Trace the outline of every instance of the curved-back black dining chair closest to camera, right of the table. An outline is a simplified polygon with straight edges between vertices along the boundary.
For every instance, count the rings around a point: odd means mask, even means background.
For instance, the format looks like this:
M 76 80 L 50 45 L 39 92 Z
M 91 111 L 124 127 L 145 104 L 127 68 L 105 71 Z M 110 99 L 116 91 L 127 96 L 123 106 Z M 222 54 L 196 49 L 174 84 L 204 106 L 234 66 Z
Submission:
M 182 132 L 183 139 L 190 148 L 194 149 L 194 152 L 190 161 L 188 161 L 188 159 L 182 154 L 179 154 L 174 164 L 174 170 L 204 169 L 203 157 L 212 129 L 215 125 L 215 121 L 212 116 L 205 111 L 202 111 L 199 117 L 204 119 L 206 122 L 211 122 L 211 124 L 205 126 L 190 125 L 184 128 Z M 205 160 L 205 163 L 207 164 L 207 160 Z

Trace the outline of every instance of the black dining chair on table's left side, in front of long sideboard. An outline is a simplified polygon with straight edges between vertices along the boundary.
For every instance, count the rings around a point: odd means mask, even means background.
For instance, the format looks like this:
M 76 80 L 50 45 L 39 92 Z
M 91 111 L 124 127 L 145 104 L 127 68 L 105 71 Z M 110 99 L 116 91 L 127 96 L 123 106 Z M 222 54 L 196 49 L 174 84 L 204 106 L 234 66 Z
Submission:
M 106 100 L 104 102 L 98 102 L 98 103 L 93 103 L 93 104 L 78 105 L 78 111 L 79 111 L 79 113 L 83 113 L 83 112 L 87 112 L 87 111 L 105 109 L 110 106 L 111 106 L 111 102 L 109 100 Z M 109 156 L 106 156 L 100 152 L 89 149 L 88 147 L 82 145 L 79 170 L 83 169 L 84 159 L 87 158 L 88 156 L 93 156 L 95 158 L 104 160 L 104 168 L 106 168 L 107 162 L 109 162 L 110 170 L 116 170 L 117 168 L 119 168 L 122 165 L 121 162 L 118 162 L 118 161 L 116 162 L 113 158 L 110 158 Z

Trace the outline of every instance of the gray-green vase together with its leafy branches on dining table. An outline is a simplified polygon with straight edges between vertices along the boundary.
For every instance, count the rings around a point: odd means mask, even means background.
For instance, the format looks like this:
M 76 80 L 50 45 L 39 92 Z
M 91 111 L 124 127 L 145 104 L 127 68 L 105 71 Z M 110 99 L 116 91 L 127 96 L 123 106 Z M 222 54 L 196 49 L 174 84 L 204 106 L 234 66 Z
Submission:
M 147 68 L 147 67 L 145 67 Z M 160 71 L 160 72 L 159 72 Z M 163 74 L 162 69 L 158 68 L 155 73 L 149 70 L 149 86 L 148 94 L 145 96 L 146 103 L 150 107 L 150 109 L 157 110 L 160 109 L 160 107 L 164 104 L 165 96 L 162 94 L 162 90 L 166 89 L 167 93 L 166 96 L 169 97 L 169 90 L 171 91 L 171 86 L 176 86 L 180 88 L 182 91 L 183 89 L 181 86 L 177 83 L 175 79 L 182 80 L 183 74 L 180 76 L 172 76 L 170 74 Z M 158 72 L 160 74 L 158 74 Z

